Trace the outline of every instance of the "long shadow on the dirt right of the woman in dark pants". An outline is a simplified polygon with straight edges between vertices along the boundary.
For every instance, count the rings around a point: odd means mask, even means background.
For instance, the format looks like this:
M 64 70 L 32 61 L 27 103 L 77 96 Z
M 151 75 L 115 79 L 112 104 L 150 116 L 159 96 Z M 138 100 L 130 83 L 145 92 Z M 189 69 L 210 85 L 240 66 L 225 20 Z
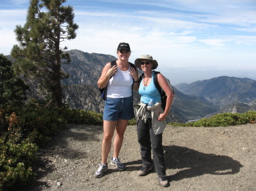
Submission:
M 229 175 L 238 173 L 242 165 L 224 155 L 205 154 L 187 147 L 164 146 L 167 169 L 180 169 L 169 176 L 170 180 L 181 180 L 204 174 Z

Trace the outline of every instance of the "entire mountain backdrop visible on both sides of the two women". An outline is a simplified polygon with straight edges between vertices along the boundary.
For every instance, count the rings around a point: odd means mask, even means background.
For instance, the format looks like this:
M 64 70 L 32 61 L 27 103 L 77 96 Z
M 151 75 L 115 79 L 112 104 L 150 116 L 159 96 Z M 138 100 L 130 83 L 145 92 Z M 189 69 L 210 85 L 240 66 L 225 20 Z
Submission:
M 106 63 L 117 58 L 81 50 L 67 52 L 71 62 L 62 66 L 63 71 L 69 74 L 69 78 L 63 80 L 64 102 L 71 108 L 102 113 L 104 100 L 100 97 L 97 80 Z M 255 88 L 256 80 L 234 77 L 218 77 L 191 84 L 178 84 L 174 87 L 175 100 L 167 122 L 198 120 L 225 111 L 255 111 Z M 32 95 L 36 95 L 36 88 L 32 90 Z M 138 102 L 138 92 L 134 92 L 134 103 Z M 225 110 L 225 108 L 229 109 Z

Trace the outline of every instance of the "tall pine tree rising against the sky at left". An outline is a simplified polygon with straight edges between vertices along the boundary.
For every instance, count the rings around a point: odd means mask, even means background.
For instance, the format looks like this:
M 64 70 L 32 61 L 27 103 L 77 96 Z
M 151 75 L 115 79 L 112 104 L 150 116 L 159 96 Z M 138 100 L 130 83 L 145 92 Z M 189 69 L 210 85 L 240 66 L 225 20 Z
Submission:
M 62 106 L 61 79 L 67 78 L 61 64 L 69 63 L 60 43 L 75 39 L 73 22 L 75 14 L 71 6 L 63 6 L 66 0 L 31 0 L 24 26 L 16 26 L 16 40 L 11 56 L 15 58 L 16 73 L 35 80 L 49 103 Z

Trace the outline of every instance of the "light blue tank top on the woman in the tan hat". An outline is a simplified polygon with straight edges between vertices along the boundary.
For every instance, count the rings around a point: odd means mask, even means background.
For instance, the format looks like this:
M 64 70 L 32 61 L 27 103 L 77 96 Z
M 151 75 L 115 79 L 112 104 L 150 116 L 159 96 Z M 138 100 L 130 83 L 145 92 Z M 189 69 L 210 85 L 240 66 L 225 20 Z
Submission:
M 155 71 L 152 72 L 151 81 L 150 81 L 150 84 L 148 84 L 148 86 L 143 86 L 143 79 L 139 84 L 139 94 L 141 95 L 141 102 L 144 104 L 147 104 L 148 102 L 150 102 L 150 99 L 153 100 L 154 104 L 156 102 L 161 101 L 159 91 L 154 84 L 154 79 L 153 79 L 154 73 Z M 144 90 L 144 87 L 145 87 L 145 90 Z

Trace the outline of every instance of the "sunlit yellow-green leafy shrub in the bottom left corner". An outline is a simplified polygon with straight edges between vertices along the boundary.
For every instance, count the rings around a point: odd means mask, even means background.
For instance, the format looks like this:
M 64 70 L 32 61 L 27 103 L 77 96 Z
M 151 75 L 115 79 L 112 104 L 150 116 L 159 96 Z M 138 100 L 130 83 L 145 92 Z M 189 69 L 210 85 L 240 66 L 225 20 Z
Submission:
M 34 180 L 32 165 L 37 159 L 38 146 L 24 138 L 24 121 L 15 113 L 1 116 L 1 121 L 9 122 L 9 127 L 0 137 L 0 190 L 9 190 Z

